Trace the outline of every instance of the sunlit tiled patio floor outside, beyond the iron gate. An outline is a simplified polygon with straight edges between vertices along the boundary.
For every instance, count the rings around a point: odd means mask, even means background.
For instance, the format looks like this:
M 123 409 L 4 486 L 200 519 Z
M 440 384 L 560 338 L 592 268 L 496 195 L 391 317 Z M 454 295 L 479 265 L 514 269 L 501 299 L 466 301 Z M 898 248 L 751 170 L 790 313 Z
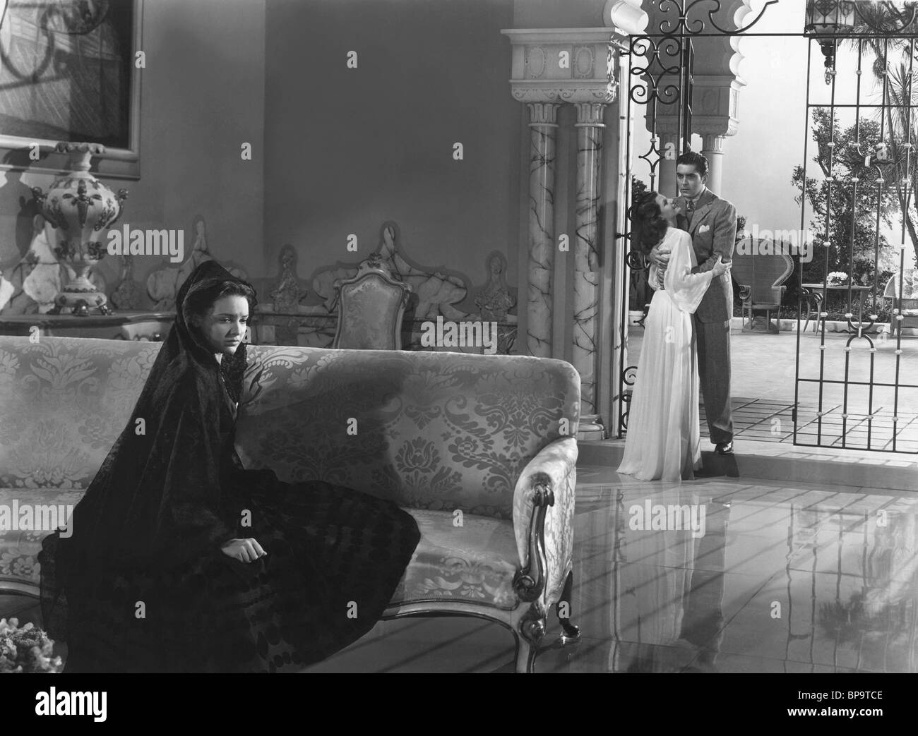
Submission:
M 633 326 L 629 330 L 628 362 L 632 365 L 640 360 L 643 337 L 642 328 Z M 849 345 L 850 338 L 842 333 L 827 333 L 823 343 L 819 334 L 801 334 L 799 375 L 810 380 L 795 385 L 795 331 L 764 334 L 733 329 L 730 340 L 735 436 L 794 444 L 796 394 L 800 407 L 798 445 L 918 452 L 918 388 L 910 387 L 918 385 L 918 339 L 875 337 L 875 351 L 870 352 L 871 343 L 867 340 L 855 338 Z M 845 351 L 848 346 L 850 351 Z M 898 355 L 897 350 L 901 351 Z M 823 381 L 839 383 L 820 384 L 821 376 Z M 898 390 L 887 386 L 897 380 Z M 893 422 L 893 417 L 898 420 Z M 703 406 L 701 433 L 707 437 Z

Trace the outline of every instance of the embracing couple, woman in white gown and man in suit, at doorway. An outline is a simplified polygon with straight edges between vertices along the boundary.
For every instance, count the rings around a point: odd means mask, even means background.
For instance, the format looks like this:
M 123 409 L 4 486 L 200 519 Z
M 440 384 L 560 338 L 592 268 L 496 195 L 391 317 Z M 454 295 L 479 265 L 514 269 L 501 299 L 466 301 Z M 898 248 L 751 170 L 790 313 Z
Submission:
M 618 472 L 689 480 L 701 468 L 699 376 L 716 452 L 733 452 L 730 278 L 736 209 L 705 185 L 708 160 L 676 162 L 680 196 L 648 192 L 633 206 L 633 241 L 651 262 L 655 289 Z

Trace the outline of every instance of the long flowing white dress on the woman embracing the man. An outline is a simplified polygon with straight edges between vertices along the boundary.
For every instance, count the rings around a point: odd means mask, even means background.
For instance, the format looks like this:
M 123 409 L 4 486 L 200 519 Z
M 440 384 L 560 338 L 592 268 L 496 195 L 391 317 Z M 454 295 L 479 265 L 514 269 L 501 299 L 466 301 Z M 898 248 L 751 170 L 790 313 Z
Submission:
M 644 341 L 628 414 L 628 433 L 619 473 L 640 480 L 691 479 L 701 467 L 698 355 L 692 314 L 711 285 L 711 271 L 691 273 L 698 265 L 691 236 L 666 231 L 660 250 L 669 263 L 655 287 L 644 320 Z

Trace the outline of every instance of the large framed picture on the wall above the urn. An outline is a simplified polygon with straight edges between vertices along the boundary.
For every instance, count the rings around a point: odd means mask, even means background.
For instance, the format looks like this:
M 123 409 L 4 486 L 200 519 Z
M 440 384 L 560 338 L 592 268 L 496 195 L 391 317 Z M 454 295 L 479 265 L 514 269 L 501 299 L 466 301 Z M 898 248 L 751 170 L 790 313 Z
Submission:
M 106 22 L 115 26 L 116 18 L 116 29 L 100 28 Z M 60 128 L 49 120 L 54 114 L 53 108 L 46 106 L 42 112 L 34 100 L 43 94 L 48 95 L 45 90 L 50 84 L 57 85 L 54 92 L 58 93 L 62 88 L 65 93 L 69 91 L 68 82 L 73 84 L 73 89 L 78 90 L 80 80 L 75 75 L 67 75 L 75 74 L 79 64 L 73 64 L 72 69 L 71 65 L 62 63 L 62 60 L 68 58 L 68 50 L 74 47 L 76 52 L 73 58 L 79 58 L 78 55 L 82 53 L 83 49 L 77 47 L 73 39 L 83 36 L 86 39 L 84 45 L 92 47 L 90 34 L 95 33 L 101 39 L 103 31 L 119 33 L 122 38 L 129 36 L 130 39 L 130 48 L 126 49 L 126 44 L 122 44 L 117 59 L 112 59 L 110 54 L 106 57 L 109 68 L 114 66 L 116 72 L 110 77 L 116 77 L 122 85 L 117 88 L 115 95 L 118 97 L 118 113 L 115 116 L 118 117 L 117 130 L 110 130 L 107 137 L 94 136 L 79 129 L 64 130 L 60 137 L 54 138 L 47 132 L 49 128 Z M 142 50 L 142 39 L 143 0 L 93 0 L 89 3 L 77 0 L 47 0 L 45 3 L 36 0 L 8 0 L 0 22 L 0 111 L 4 112 L 0 115 L 0 169 L 60 173 L 67 168 L 68 157 L 65 153 L 55 151 L 56 144 L 61 140 L 86 140 L 102 143 L 106 149 L 104 153 L 93 157 L 94 173 L 116 179 L 140 179 L 142 69 L 138 68 L 135 61 L 137 52 Z M 34 49 L 29 48 L 30 40 L 34 40 Z M 68 44 L 70 49 L 67 48 Z M 101 40 L 97 47 L 101 61 L 105 53 Z M 27 63 L 22 65 L 28 67 L 30 61 L 33 68 L 14 71 L 16 61 L 22 62 L 24 59 Z M 90 63 L 93 61 L 90 57 Z M 124 89 L 125 84 L 128 89 Z M 46 85 L 44 89 L 42 85 Z M 16 96 L 12 95 L 13 92 Z M 103 98 L 103 93 L 97 92 Z M 6 99 L 4 95 L 7 95 Z M 23 100 L 27 102 L 22 103 Z M 110 100 L 111 95 L 103 99 L 103 104 L 110 103 Z M 19 110 L 16 109 L 17 102 L 21 103 Z M 89 104 L 92 105 L 91 102 Z M 29 119 L 29 107 L 35 111 L 35 119 Z M 10 109 L 12 113 L 8 113 Z M 44 119 L 39 119 L 41 117 Z M 30 125 L 36 131 L 34 135 L 29 135 L 25 130 Z

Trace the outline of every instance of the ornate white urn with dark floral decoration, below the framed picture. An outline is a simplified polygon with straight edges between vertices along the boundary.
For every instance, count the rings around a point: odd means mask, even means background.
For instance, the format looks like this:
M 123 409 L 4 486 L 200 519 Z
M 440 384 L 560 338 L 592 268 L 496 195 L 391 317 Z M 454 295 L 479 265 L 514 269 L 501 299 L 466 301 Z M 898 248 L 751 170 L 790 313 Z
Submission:
M 88 275 L 106 256 L 104 231 L 121 216 L 128 190 L 119 189 L 116 195 L 89 172 L 93 155 L 105 152 L 99 143 L 58 143 L 56 150 L 70 154 L 69 170 L 58 175 L 47 194 L 32 187 L 41 214 L 56 231 L 57 245 L 52 250 L 73 270 L 70 283 L 54 297 L 50 313 L 86 316 L 97 308 L 101 314 L 111 314 L 108 297 Z

